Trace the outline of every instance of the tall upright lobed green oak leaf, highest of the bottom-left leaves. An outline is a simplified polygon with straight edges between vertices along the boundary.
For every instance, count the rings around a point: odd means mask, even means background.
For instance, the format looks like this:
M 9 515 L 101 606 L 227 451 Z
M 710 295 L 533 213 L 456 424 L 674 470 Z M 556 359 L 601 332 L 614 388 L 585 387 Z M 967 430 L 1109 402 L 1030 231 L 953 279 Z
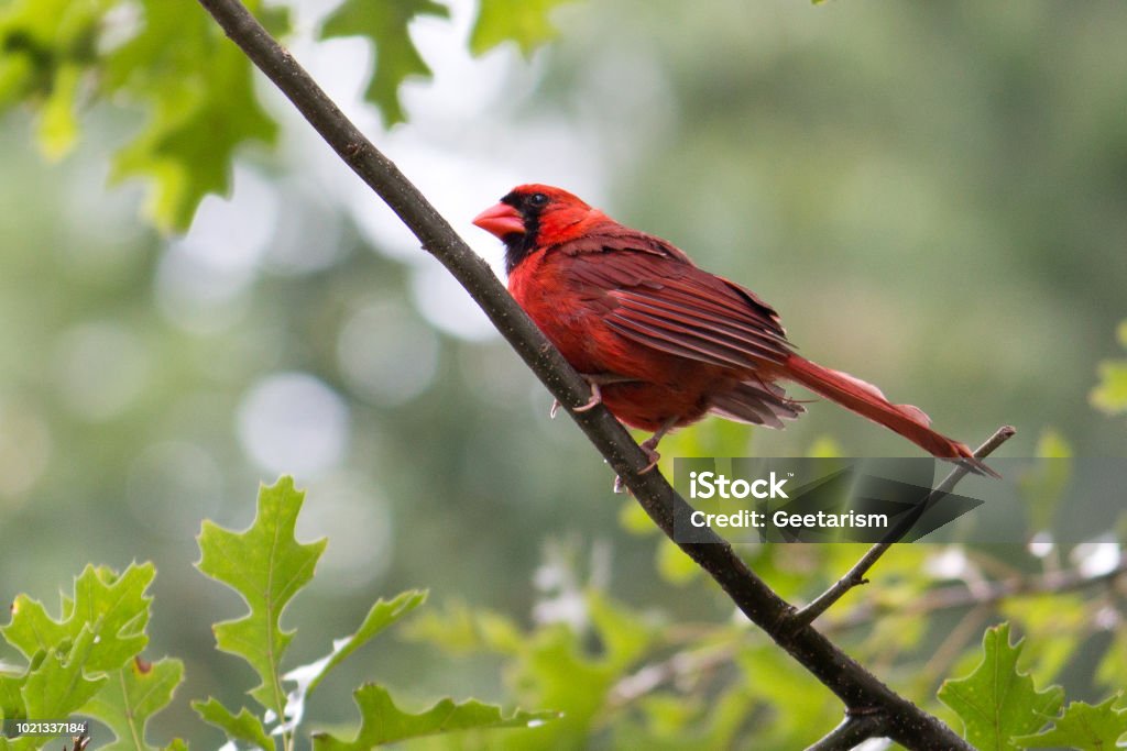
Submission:
M 278 717 L 286 704 L 279 664 L 293 638 L 293 632 L 282 628 L 282 611 L 312 580 L 326 544 L 320 539 L 302 545 L 294 538 L 304 498 L 294 490 L 293 479 L 282 477 L 259 489 L 258 513 L 249 529 L 233 533 L 208 520 L 198 538 L 199 571 L 237 591 L 250 608 L 238 620 L 216 624 L 215 643 L 250 663 L 261 679 L 250 695 Z

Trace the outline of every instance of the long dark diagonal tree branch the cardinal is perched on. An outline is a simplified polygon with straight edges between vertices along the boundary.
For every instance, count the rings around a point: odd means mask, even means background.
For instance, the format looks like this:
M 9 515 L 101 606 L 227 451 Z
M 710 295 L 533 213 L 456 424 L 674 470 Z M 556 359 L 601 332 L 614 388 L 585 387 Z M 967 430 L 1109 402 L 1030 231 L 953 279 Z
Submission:
M 573 408 L 571 417 L 579 428 L 654 522 L 673 539 L 674 518 L 690 513 L 691 507 L 659 472 L 639 474 L 649 459 L 604 406 L 574 411 L 589 396 L 586 382 L 524 314 L 489 266 L 238 0 L 199 0 L 199 3 L 353 171 L 396 212 L 423 248 L 462 284 L 548 391 Z M 833 691 L 850 713 L 879 709 L 885 721 L 872 734 L 887 735 L 914 749 L 970 749 L 951 728 L 894 692 L 813 627 L 787 627 L 793 607 L 755 575 L 721 537 L 709 531 L 703 539 L 680 546 L 720 584 L 744 615 Z

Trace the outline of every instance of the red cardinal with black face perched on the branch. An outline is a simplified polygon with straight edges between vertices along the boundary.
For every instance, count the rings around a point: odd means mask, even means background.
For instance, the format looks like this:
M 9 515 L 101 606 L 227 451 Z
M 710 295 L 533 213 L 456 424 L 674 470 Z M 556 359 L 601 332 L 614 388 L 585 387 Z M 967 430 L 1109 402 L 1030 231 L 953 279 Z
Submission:
M 602 402 L 653 431 L 642 448 L 654 463 L 662 436 L 706 414 L 781 428 L 805 411 L 778 383 L 793 381 L 933 456 L 995 474 L 919 408 L 796 355 L 779 314 L 748 289 L 566 190 L 520 186 L 473 223 L 504 241 L 508 290 L 591 383 L 578 411 Z

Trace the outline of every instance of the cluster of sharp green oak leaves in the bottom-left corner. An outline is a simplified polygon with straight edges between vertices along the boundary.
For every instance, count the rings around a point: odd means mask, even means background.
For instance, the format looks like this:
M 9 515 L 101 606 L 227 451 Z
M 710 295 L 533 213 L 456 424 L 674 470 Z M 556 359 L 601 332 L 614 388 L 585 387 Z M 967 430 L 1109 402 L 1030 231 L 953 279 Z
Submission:
M 356 631 L 334 642 L 323 658 L 290 671 L 282 660 L 294 632 L 281 625 L 286 606 L 313 578 L 326 542 L 302 544 L 294 526 L 304 495 L 283 477 L 263 488 L 254 524 L 234 533 L 205 521 L 199 535 L 199 570 L 238 592 L 248 613 L 214 626 L 220 651 L 243 659 L 260 682 L 248 694 L 257 708 L 236 713 L 215 698 L 193 701 L 199 717 L 232 742 L 259 749 L 294 748 L 305 719 L 305 701 L 326 677 L 382 631 L 426 600 L 426 592 L 410 590 L 391 600 L 379 600 Z M 52 618 L 42 602 L 20 594 L 12 604 L 11 622 L 0 629 L 3 640 L 27 661 L 26 667 L 0 669 L 0 719 L 63 719 L 87 716 L 106 725 L 122 751 L 154 749 L 148 724 L 171 704 L 184 678 L 184 664 L 165 658 L 149 662 L 141 656 L 149 636 L 152 598 L 147 594 L 156 576 L 151 563 L 133 564 L 121 575 L 106 567 L 87 566 L 62 600 L 62 616 Z M 406 739 L 492 727 L 527 727 L 553 721 L 553 712 L 505 714 L 502 708 L 469 699 L 438 700 L 431 708 L 401 709 L 390 691 L 365 683 L 354 692 L 360 724 L 354 736 L 317 732 L 314 749 L 370 749 Z M 0 750 L 42 748 L 46 735 L 0 737 Z M 79 741 L 74 740 L 76 748 Z M 186 749 L 174 740 L 166 749 Z

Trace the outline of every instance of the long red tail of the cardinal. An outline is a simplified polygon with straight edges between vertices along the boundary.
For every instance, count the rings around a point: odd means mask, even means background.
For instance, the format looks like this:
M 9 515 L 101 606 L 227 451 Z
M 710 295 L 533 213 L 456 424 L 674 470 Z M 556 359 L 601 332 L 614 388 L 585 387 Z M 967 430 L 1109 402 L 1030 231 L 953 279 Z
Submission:
M 932 456 L 955 461 L 978 474 L 999 476 L 978 461 L 966 444 L 932 430 L 929 427 L 931 419 L 923 410 L 911 404 L 893 404 L 871 383 L 822 367 L 798 355 L 787 358 L 783 374 L 814 393 L 904 436 Z

